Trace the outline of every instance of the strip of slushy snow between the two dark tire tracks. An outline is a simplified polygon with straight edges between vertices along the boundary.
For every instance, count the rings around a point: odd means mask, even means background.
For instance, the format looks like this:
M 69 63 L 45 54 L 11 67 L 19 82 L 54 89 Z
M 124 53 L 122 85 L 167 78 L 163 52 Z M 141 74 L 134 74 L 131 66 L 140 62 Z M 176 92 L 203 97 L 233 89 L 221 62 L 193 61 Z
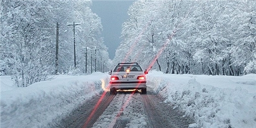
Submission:
M 117 93 L 93 128 L 150 128 L 139 93 Z

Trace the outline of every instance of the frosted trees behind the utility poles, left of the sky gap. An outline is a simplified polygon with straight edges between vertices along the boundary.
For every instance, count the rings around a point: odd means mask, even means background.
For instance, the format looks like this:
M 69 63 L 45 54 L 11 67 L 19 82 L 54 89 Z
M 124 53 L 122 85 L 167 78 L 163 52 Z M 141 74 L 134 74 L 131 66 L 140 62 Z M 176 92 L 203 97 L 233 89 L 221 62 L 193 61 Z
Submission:
M 12 75 L 22 87 L 54 75 L 57 22 L 59 74 L 85 74 L 85 53 L 87 72 L 92 72 L 90 56 L 107 62 L 100 17 L 92 13 L 91 4 L 90 0 L 1 0 L 0 75 Z M 81 24 L 75 27 L 76 69 L 73 28 L 67 26 L 73 21 Z M 92 49 L 98 49 L 96 55 Z

